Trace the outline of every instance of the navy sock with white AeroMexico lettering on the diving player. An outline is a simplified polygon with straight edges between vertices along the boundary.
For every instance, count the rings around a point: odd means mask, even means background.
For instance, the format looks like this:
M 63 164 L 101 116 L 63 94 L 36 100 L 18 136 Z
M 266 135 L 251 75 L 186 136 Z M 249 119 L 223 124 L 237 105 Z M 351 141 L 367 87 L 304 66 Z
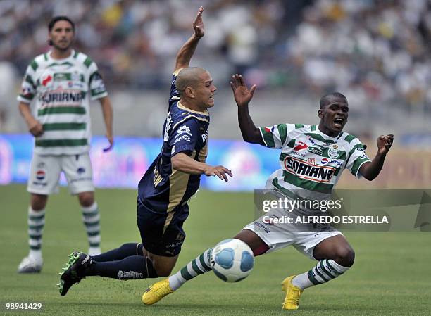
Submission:
M 96 262 L 85 272 L 86 276 L 99 275 L 112 279 L 146 279 L 158 277 L 153 262 L 142 255 L 130 255 L 118 261 Z

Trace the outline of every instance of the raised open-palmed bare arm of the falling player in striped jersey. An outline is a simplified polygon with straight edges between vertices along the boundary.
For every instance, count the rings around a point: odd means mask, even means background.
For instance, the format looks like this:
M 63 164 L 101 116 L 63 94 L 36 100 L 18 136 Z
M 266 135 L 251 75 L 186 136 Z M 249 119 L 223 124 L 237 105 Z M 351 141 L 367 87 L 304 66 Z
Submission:
M 254 125 L 249 113 L 249 102 L 253 99 L 256 84 L 249 89 L 244 83 L 242 75 L 236 74 L 232 76 L 230 87 L 232 87 L 235 102 L 238 106 L 238 122 L 242 139 L 248 143 L 264 145 L 261 132 L 259 132 L 259 129 Z

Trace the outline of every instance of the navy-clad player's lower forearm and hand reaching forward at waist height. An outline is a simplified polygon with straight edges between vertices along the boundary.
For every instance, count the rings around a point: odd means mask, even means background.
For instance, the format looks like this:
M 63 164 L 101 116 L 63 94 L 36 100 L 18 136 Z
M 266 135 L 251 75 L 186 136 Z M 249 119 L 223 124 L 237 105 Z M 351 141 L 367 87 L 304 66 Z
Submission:
M 220 180 L 227 181 L 227 175 L 232 177 L 232 171 L 223 167 L 223 165 L 211 166 L 187 156 L 185 153 L 177 153 L 171 158 L 172 168 L 189 175 L 206 175 L 217 176 Z

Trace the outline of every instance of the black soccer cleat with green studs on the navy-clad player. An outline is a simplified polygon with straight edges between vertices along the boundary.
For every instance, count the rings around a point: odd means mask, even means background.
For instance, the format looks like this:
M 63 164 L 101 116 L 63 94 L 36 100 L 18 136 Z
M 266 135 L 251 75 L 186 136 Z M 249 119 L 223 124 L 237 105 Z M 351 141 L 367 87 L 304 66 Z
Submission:
M 61 296 L 65 296 L 73 284 L 85 278 L 85 271 L 93 265 L 92 257 L 86 253 L 74 251 L 69 255 L 69 262 L 60 272 L 60 283 L 57 284 Z

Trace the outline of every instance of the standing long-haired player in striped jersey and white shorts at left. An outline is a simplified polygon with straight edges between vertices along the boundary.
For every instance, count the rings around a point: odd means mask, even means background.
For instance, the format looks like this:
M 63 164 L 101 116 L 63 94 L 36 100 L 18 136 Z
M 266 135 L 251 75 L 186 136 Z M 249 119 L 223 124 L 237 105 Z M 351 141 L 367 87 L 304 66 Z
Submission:
M 51 50 L 37 56 L 27 67 L 18 96 L 20 113 L 35 137 L 27 191 L 30 253 L 18 272 L 42 270 L 42 232 L 49 194 L 58 191 L 61 171 L 70 194 L 76 194 L 89 240 L 89 253 L 100 253 L 100 215 L 94 200 L 89 99 L 99 100 L 106 125 L 109 150 L 113 146 L 112 108 L 96 63 L 72 49 L 75 25 L 56 16 L 48 25 Z M 32 109 L 30 109 L 30 103 Z

